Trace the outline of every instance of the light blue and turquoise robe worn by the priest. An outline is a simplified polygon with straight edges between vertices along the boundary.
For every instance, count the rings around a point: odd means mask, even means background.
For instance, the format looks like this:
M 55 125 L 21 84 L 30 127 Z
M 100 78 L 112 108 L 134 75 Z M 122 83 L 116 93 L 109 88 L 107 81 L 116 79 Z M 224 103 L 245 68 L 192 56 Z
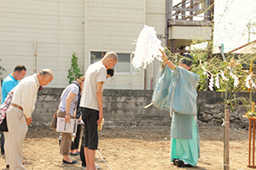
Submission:
M 161 72 L 154 88 L 153 105 L 172 112 L 171 161 L 181 159 L 192 166 L 200 156 L 200 140 L 196 120 L 196 87 L 199 76 L 177 66 Z

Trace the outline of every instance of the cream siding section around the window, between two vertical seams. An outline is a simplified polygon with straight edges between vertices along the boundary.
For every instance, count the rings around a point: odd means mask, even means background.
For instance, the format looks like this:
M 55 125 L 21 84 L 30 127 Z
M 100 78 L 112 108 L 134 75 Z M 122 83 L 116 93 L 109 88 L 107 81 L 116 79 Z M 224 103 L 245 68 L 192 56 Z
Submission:
M 89 0 L 84 4 L 87 5 L 86 66 L 90 65 L 90 51 L 127 54 L 135 51 L 136 46 L 131 43 L 137 40 L 139 32 L 143 29 L 144 0 Z M 143 71 L 141 72 L 134 75 L 115 73 L 114 77 L 106 82 L 105 88 L 143 89 L 144 77 Z

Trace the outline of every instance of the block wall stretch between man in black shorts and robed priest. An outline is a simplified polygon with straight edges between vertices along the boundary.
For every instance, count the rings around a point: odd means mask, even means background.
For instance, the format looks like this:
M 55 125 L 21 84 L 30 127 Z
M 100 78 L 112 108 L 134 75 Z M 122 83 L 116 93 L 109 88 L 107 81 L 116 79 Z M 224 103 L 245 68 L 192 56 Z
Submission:
M 157 110 L 151 103 L 153 91 L 148 90 L 104 90 L 104 116 L 110 120 L 164 119 L 168 111 Z

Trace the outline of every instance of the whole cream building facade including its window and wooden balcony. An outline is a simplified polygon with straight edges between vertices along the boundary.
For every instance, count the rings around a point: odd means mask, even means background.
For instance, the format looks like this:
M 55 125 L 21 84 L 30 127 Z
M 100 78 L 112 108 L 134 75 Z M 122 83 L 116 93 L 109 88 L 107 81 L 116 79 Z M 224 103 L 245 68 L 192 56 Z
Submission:
M 206 25 L 191 19 L 208 8 L 202 4 L 210 4 L 210 0 L 179 1 L 0 0 L 0 65 L 7 70 L 2 78 L 15 65 L 26 65 L 26 75 L 49 68 L 55 78 L 47 88 L 65 88 L 73 53 L 84 75 L 90 64 L 114 51 L 119 62 L 105 88 L 154 89 L 160 63 L 154 61 L 146 70 L 136 70 L 131 65 L 136 48 L 132 43 L 144 25 L 153 26 L 162 46 L 169 46 L 173 53 L 202 35 Z M 209 39 L 211 24 L 207 26 Z

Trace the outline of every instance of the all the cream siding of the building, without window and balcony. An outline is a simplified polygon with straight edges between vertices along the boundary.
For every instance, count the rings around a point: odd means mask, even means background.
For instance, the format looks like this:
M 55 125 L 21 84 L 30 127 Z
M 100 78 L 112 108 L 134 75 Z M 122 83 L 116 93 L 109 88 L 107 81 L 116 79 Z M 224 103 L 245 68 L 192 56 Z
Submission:
M 166 0 L 0 0 L 0 65 L 7 70 L 3 78 L 19 64 L 32 75 L 36 43 L 37 72 L 51 69 L 55 78 L 49 87 L 64 88 L 73 52 L 84 74 L 91 51 L 135 51 L 131 43 L 144 24 L 165 36 L 165 13 Z M 150 84 L 154 65 L 147 74 Z M 105 88 L 143 89 L 144 70 L 115 73 Z

